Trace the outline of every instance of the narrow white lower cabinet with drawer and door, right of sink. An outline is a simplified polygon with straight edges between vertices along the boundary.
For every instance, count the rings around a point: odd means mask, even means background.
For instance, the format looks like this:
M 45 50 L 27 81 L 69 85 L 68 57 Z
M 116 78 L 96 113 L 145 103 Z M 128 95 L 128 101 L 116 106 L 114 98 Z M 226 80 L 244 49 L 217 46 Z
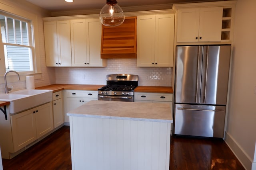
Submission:
M 62 91 L 53 93 L 52 99 L 53 123 L 56 128 L 64 123 Z

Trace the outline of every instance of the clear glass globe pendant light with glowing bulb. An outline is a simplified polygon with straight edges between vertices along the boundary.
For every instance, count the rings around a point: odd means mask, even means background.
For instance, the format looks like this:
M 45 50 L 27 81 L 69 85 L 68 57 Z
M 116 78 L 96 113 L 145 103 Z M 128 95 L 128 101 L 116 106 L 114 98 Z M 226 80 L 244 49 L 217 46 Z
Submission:
M 116 3 L 116 0 L 106 0 L 106 5 L 100 10 L 100 22 L 103 25 L 115 27 L 124 22 L 124 12 Z

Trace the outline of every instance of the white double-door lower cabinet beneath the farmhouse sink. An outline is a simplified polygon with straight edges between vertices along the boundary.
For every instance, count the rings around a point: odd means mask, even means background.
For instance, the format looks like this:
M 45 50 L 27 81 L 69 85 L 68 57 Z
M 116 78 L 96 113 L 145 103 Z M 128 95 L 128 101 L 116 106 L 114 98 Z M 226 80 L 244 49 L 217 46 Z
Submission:
M 53 129 L 52 103 L 11 115 L 14 152 Z

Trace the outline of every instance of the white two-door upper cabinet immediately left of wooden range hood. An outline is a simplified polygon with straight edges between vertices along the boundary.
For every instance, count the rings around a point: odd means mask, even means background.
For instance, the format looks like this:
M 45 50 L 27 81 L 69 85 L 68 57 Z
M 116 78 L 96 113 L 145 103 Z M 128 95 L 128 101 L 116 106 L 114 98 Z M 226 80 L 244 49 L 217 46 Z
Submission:
M 106 66 L 100 59 L 101 23 L 99 19 L 70 21 L 72 66 Z

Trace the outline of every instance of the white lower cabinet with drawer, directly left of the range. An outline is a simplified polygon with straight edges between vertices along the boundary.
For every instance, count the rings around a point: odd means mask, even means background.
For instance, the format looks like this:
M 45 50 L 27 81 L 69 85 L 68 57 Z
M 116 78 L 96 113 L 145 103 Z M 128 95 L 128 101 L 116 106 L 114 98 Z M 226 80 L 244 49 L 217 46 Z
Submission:
M 64 90 L 64 117 L 69 122 L 67 113 L 82 106 L 91 100 L 98 100 L 98 91 L 91 90 Z

